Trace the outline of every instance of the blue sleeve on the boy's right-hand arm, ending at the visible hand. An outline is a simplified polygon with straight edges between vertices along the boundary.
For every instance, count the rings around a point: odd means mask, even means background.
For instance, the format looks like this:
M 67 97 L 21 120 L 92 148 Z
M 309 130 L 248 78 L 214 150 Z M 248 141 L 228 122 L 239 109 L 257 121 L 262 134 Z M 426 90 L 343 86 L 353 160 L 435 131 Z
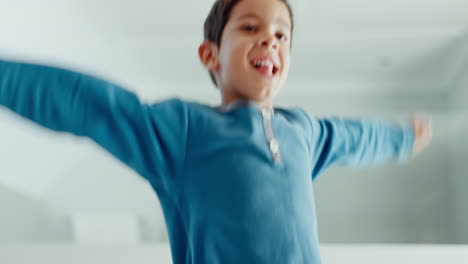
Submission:
M 410 124 L 339 117 L 309 119 L 315 164 L 312 179 L 333 164 L 365 168 L 389 161 L 404 163 L 411 156 L 414 134 Z

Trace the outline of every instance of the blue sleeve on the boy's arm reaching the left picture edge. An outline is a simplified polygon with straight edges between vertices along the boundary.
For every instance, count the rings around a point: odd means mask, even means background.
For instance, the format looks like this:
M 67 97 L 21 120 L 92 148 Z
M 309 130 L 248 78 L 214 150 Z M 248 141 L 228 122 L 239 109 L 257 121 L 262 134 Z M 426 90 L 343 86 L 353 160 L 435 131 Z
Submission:
M 41 126 L 92 139 L 171 191 L 185 158 L 186 104 L 152 105 L 110 82 L 51 66 L 0 60 L 0 105 Z

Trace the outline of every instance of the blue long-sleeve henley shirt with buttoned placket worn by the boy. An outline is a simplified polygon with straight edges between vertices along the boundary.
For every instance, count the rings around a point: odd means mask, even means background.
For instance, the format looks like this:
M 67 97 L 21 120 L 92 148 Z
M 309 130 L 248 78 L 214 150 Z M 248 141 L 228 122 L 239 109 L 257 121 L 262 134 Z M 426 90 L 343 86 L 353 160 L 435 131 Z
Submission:
M 147 179 L 174 264 L 320 263 L 312 180 L 332 164 L 404 162 L 414 141 L 410 126 L 249 101 L 144 104 L 89 75 L 8 61 L 0 105 L 91 138 Z

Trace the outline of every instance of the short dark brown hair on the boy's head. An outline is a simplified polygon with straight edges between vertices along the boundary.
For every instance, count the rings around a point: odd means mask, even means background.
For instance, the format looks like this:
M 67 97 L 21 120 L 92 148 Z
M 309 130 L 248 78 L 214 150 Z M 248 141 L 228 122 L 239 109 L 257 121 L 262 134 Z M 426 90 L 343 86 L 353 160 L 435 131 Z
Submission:
M 212 41 L 216 43 L 218 47 L 221 45 L 221 36 L 223 35 L 224 27 L 226 26 L 229 17 L 231 16 L 232 9 L 234 6 L 239 3 L 241 0 L 216 0 L 216 2 L 211 7 L 211 11 L 208 14 L 208 17 L 205 20 L 204 25 L 204 38 L 205 40 Z M 278 0 L 283 2 L 288 8 L 289 15 L 291 17 L 291 33 L 294 28 L 294 19 L 291 6 L 287 0 Z M 292 41 L 292 38 L 291 38 Z M 216 80 L 213 76 L 213 73 L 210 72 L 211 80 L 215 85 Z

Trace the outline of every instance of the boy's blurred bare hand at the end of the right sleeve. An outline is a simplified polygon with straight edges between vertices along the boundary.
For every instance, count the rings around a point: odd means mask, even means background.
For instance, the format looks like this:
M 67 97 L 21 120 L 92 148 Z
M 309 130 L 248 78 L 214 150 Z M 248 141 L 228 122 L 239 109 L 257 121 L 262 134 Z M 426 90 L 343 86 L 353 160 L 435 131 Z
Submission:
M 412 156 L 418 155 L 432 141 L 432 118 L 426 114 L 413 114 L 414 145 Z

